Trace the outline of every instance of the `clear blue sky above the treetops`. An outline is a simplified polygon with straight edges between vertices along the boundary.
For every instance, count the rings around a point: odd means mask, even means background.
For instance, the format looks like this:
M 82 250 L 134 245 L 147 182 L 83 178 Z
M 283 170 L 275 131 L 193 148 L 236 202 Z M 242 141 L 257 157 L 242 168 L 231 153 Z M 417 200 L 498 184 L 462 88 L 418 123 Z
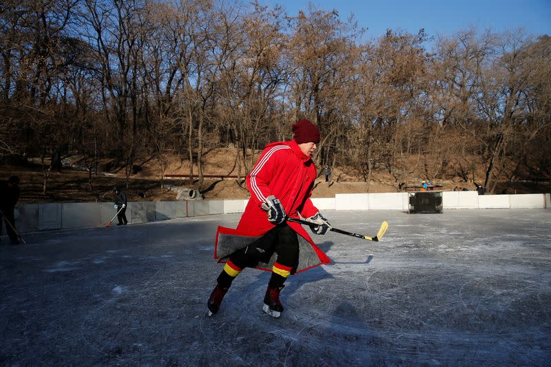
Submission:
M 337 10 L 346 20 L 355 15 L 359 27 L 367 28 L 366 38 L 377 38 L 386 29 L 401 28 L 417 33 L 451 35 L 469 26 L 494 32 L 524 28 L 527 34 L 551 34 L 551 1 L 549 0 L 260 0 L 262 5 L 280 4 L 291 16 L 308 10 L 309 3 L 320 10 Z

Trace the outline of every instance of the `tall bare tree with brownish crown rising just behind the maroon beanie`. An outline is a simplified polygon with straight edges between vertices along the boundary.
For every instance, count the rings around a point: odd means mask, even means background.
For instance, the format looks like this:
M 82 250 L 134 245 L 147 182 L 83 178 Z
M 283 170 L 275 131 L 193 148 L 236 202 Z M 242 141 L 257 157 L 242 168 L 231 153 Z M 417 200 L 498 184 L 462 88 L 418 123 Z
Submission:
M 353 63 L 356 60 L 357 30 L 353 19 L 341 21 L 337 12 L 325 12 L 309 7 L 291 19 L 293 34 L 289 41 L 290 80 L 289 109 L 293 120 L 306 117 L 320 127 L 322 140 L 318 144 L 315 162 L 335 157 L 340 145 L 340 132 L 351 124 L 349 102 L 353 88 Z M 327 149 L 326 149 L 327 148 Z

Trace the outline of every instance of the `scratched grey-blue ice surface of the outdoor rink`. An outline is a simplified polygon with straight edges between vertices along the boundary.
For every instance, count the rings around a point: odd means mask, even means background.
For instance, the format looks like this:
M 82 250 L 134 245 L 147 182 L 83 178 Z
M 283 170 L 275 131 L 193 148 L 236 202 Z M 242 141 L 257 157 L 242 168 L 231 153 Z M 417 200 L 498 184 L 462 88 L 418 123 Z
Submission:
M 0 245 L 2 366 L 550 366 L 551 210 L 324 211 L 381 242 L 313 235 L 332 264 L 246 269 L 220 311 L 218 224 L 240 214 L 25 235 Z

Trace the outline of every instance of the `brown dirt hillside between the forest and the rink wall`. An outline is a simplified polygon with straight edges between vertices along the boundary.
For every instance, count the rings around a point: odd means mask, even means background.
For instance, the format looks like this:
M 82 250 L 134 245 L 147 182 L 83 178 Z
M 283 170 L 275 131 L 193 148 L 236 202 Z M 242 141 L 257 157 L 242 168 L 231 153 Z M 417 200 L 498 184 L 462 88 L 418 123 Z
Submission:
M 176 200 L 182 188 L 194 189 L 207 200 L 215 199 L 245 199 L 249 192 L 243 180 L 222 178 L 222 176 L 237 176 L 235 165 L 236 151 L 229 148 L 212 149 L 205 155 L 203 174 L 216 176 L 205 178 L 199 187 L 198 181 L 189 182 L 189 178 L 174 178 L 169 175 L 189 176 L 189 162 L 178 156 L 165 156 L 163 160 L 143 158 L 134 166 L 134 172 L 126 180 L 125 168 L 115 160 L 104 159 L 98 164 L 98 173 L 93 171 L 90 176 L 82 157 L 64 156 L 61 172 L 50 171 L 45 162 L 45 169 L 38 159 L 17 160 L 16 162 L 0 162 L 0 179 L 17 175 L 21 179 L 20 202 L 98 202 L 112 201 L 112 188 L 118 186 L 127 192 L 128 200 Z M 258 154 L 256 156 L 258 159 Z M 165 178 L 161 189 L 161 163 L 165 162 Z M 197 173 L 194 167 L 194 174 Z M 45 195 L 43 187 L 45 176 L 48 175 Z M 419 185 L 420 178 L 412 177 L 406 184 Z M 475 189 L 469 182 L 461 182 L 459 178 L 437 180 L 444 190 Z M 331 182 L 325 182 L 324 176 L 316 179 L 313 198 L 332 198 L 336 193 L 377 193 L 397 192 L 397 182 L 389 174 L 378 172 L 369 183 L 362 182 L 353 176 L 351 171 L 336 167 L 331 174 Z M 509 186 L 510 187 L 510 186 Z M 509 188 L 510 193 L 549 192 L 549 187 L 519 187 Z M 543 191 L 542 191 L 543 190 Z M 514 191 L 514 192 L 513 192 Z

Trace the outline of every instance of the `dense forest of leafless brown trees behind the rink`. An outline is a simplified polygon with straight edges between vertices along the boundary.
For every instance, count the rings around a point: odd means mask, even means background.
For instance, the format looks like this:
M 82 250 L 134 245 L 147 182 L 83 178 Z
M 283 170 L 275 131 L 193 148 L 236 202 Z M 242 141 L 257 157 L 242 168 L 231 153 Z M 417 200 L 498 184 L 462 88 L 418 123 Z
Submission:
M 366 25 L 368 26 L 368 25 Z M 498 181 L 551 176 L 551 38 L 388 30 L 353 17 L 228 0 L 3 0 L 1 154 L 194 162 L 320 127 L 319 165 Z M 475 177 L 475 170 L 484 172 Z M 191 170 L 191 168 L 190 168 Z M 46 171 L 45 171 L 46 172 Z M 191 174 L 191 171 L 190 171 Z

